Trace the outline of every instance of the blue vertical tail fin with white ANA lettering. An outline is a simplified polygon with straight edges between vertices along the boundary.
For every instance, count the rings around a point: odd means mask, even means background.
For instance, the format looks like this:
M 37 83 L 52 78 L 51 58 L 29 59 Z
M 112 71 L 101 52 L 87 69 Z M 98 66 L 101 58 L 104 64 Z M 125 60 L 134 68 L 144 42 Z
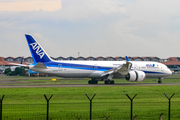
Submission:
M 34 63 L 51 61 L 51 58 L 48 56 L 48 54 L 44 51 L 44 49 L 40 46 L 40 44 L 31 35 L 25 34 L 25 36 Z

